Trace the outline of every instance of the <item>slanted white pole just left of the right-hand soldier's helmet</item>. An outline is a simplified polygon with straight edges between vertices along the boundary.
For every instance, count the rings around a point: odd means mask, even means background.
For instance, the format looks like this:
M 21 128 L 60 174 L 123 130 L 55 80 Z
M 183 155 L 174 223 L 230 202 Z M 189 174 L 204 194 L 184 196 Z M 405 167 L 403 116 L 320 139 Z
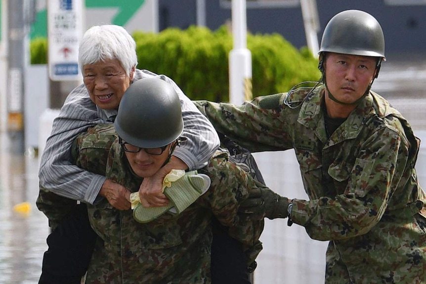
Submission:
M 316 0 L 300 0 L 303 25 L 305 27 L 306 43 L 314 56 L 318 56 L 319 20 Z

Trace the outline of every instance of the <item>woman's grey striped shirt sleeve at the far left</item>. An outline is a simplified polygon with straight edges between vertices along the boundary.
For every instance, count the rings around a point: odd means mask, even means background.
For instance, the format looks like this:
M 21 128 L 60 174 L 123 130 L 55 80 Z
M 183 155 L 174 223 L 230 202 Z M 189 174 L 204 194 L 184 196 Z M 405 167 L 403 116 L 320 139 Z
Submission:
M 82 84 L 70 93 L 53 122 L 40 162 L 41 187 L 73 200 L 94 202 L 106 177 L 74 165 L 70 148 L 80 133 L 99 122 L 96 106 Z

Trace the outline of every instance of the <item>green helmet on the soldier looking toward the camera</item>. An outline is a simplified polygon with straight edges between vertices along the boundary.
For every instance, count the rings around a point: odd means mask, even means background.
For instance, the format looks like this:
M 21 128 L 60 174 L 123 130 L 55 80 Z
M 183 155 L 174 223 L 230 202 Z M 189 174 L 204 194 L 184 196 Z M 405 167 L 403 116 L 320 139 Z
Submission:
M 384 36 L 379 22 L 369 13 L 346 10 L 336 14 L 324 29 L 319 54 L 384 57 Z

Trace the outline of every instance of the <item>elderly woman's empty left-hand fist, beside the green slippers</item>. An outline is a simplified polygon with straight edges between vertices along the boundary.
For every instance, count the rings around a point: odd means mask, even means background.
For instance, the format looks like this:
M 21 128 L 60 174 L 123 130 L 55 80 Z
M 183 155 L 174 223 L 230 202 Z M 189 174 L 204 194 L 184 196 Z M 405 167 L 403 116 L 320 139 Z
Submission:
M 119 210 L 128 210 L 131 207 L 130 191 L 110 179 L 104 182 L 99 195 L 105 197 L 114 208 Z

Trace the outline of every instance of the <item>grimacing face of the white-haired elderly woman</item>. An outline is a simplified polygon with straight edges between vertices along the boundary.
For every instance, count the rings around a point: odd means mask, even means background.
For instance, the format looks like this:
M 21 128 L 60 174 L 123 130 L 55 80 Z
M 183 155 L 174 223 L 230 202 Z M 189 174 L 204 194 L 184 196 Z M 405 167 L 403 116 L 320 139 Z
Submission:
M 108 110 L 118 108 L 132 80 L 116 59 L 86 64 L 83 67 L 83 78 L 93 103 Z

